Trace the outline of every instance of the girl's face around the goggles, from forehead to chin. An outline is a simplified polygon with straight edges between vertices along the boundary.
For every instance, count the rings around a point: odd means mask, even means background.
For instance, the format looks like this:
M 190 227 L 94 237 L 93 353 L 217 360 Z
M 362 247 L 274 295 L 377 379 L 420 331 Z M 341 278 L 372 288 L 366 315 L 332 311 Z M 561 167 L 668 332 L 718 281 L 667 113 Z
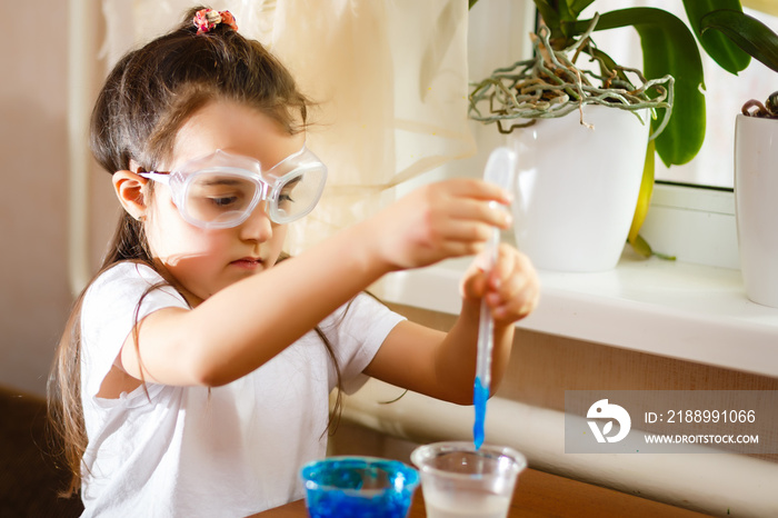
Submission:
M 259 160 L 270 168 L 298 151 L 303 136 L 290 136 L 269 117 L 246 106 L 216 101 L 197 111 L 176 138 L 171 163 L 221 149 Z M 241 225 L 202 229 L 181 218 L 170 189 L 154 186 L 146 231 L 154 258 L 180 283 L 189 303 L 197 306 L 220 289 L 272 267 L 281 252 L 286 226 L 270 221 L 260 202 Z

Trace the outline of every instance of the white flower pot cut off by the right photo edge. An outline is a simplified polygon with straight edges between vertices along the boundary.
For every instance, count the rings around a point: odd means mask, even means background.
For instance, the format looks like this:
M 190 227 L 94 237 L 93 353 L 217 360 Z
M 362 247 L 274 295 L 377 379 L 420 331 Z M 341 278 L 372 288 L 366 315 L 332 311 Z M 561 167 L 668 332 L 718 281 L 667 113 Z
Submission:
M 735 121 L 735 215 L 746 296 L 778 308 L 778 120 Z

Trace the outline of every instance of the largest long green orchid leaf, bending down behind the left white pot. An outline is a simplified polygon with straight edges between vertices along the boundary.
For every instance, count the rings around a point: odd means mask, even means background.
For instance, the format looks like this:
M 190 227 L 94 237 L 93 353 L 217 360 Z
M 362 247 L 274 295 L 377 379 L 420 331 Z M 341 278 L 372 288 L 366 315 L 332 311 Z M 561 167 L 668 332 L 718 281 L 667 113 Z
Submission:
M 584 32 L 590 20 L 576 23 Z M 702 62 L 695 37 L 678 17 L 655 8 L 630 8 L 600 14 L 596 30 L 632 26 L 640 36 L 644 74 L 648 79 L 670 74 L 676 79 L 672 117 L 657 137 L 657 152 L 666 166 L 686 163 L 705 140 Z M 661 117 L 659 117 L 661 120 Z M 652 126 L 657 126 L 657 120 Z

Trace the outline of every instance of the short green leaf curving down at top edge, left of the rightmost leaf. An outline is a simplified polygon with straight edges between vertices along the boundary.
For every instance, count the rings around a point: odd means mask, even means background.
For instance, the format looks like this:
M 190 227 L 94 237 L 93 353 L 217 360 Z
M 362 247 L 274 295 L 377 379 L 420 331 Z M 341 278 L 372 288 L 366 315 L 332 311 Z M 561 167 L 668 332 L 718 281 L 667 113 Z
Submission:
M 704 16 L 718 9 L 729 9 L 742 12 L 740 0 L 684 0 L 686 16 L 689 18 L 691 30 L 705 51 L 726 71 L 738 74 L 751 61 L 750 56 L 740 50 L 722 33 L 716 31 L 702 32 L 700 20 Z

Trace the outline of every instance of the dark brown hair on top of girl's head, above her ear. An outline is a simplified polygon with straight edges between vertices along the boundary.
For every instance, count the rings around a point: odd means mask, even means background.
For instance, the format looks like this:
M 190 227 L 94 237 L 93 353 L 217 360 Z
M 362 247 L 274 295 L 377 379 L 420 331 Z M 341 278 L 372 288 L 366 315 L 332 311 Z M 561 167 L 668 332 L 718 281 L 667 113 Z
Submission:
M 255 108 L 295 133 L 308 100 L 289 71 L 261 43 L 220 23 L 197 34 L 190 10 L 181 26 L 124 56 L 100 92 L 91 147 L 109 172 L 133 159 L 146 170 L 168 158 L 178 129 L 215 100 Z

